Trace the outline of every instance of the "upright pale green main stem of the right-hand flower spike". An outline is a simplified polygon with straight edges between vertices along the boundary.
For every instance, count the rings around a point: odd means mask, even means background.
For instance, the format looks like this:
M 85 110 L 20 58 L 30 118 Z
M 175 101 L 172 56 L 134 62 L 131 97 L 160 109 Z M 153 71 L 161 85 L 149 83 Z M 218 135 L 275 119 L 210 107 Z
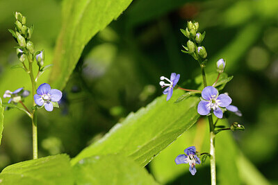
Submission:
M 204 87 L 207 86 L 206 83 L 206 73 L 204 72 L 204 66 L 201 65 L 202 69 L 202 77 L 204 82 Z M 213 116 L 208 116 L 208 123 L 209 123 L 209 132 L 210 132 L 210 150 L 209 154 L 211 159 L 211 185 L 216 184 L 216 167 L 215 167 L 215 133 L 214 133 L 214 124 L 213 124 Z

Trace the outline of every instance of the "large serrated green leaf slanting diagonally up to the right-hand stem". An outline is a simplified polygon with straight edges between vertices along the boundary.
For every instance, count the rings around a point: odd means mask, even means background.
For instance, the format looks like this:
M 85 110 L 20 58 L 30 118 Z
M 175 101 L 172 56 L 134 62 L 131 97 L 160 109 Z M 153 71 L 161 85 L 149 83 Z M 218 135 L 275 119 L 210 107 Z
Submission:
M 208 84 L 213 84 L 218 74 L 208 75 Z M 195 83 L 202 89 L 202 77 Z M 174 90 L 166 101 L 166 95 L 156 98 L 145 108 L 131 113 L 122 123 L 117 123 L 102 139 L 85 148 L 72 159 L 72 164 L 93 155 L 121 153 L 137 161 L 141 166 L 149 163 L 161 150 L 170 145 L 199 118 L 198 97 L 190 97 L 181 103 L 174 101 L 184 91 Z

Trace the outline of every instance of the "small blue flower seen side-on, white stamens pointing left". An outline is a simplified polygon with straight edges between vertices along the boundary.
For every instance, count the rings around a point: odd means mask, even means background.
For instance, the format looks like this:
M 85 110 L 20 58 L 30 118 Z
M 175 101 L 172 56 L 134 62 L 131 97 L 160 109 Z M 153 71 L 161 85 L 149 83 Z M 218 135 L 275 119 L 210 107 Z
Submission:
M 161 76 L 161 80 L 167 80 L 168 82 L 170 82 L 170 84 L 166 84 L 163 81 L 159 82 L 159 85 L 161 85 L 162 88 L 167 87 L 163 91 L 163 94 L 167 94 L 167 100 L 170 100 L 173 94 L 173 89 L 177 85 L 177 82 L 179 82 L 179 74 L 177 75 L 176 73 L 171 73 L 170 80 L 164 76 Z

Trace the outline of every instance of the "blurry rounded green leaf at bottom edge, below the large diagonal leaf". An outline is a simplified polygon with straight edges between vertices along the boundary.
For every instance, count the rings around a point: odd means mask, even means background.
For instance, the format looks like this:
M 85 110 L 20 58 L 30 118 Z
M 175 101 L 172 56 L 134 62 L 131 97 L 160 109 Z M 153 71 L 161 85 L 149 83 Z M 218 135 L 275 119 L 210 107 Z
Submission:
M 157 184 L 152 175 L 122 155 L 85 158 L 74 166 L 76 184 Z

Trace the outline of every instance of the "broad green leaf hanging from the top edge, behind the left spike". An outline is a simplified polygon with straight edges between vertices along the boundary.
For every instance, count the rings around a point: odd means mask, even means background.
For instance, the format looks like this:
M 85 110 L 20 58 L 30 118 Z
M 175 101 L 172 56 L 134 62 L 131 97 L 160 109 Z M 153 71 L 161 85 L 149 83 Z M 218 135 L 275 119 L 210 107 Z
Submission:
M 131 1 L 63 1 L 62 28 L 56 42 L 54 68 L 49 79 L 54 87 L 65 87 L 84 46 L 99 30 L 117 19 Z

